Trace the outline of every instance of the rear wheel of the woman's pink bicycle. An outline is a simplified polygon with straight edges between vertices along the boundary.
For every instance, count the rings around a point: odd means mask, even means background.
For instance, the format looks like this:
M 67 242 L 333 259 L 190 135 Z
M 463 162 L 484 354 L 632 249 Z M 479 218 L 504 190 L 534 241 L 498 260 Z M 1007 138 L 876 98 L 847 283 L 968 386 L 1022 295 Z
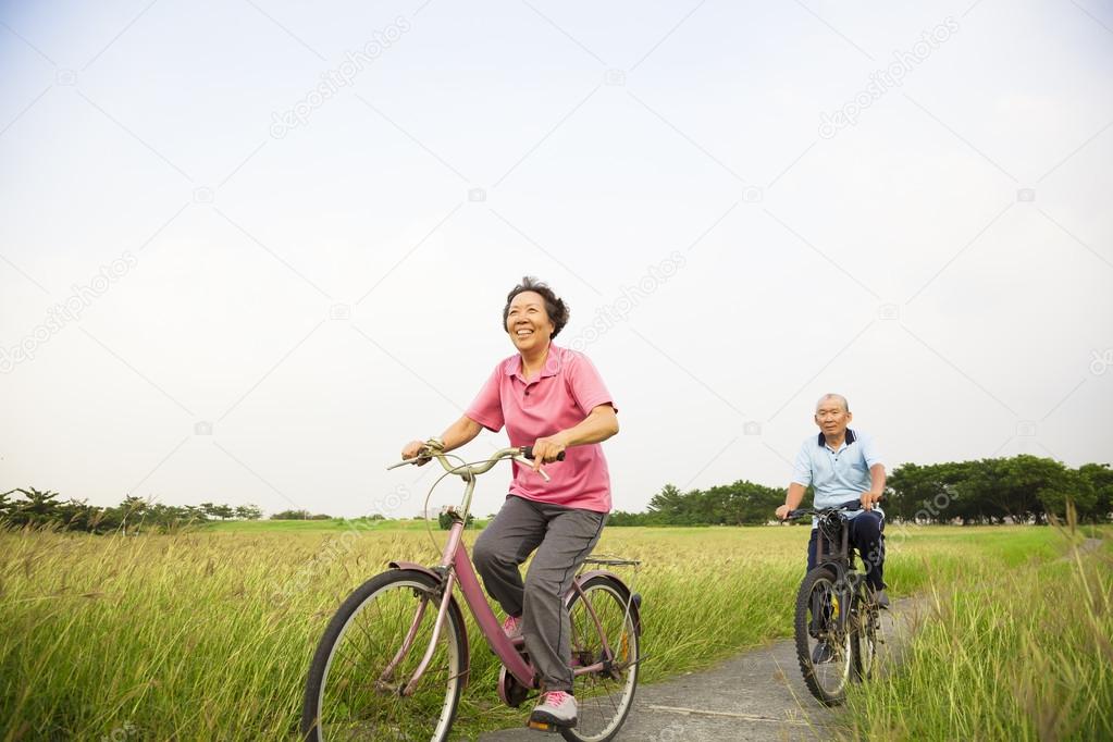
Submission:
M 575 675 L 577 725 L 560 732 L 573 742 L 607 742 L 626 721 L 638 686 L 638 609 L 631 605 L 626 586 L 607 575 L 591 577 L 580 587 L 583 596 L 573 594 L 569 604 L 572 666 L 600 662 L 604 666 Z

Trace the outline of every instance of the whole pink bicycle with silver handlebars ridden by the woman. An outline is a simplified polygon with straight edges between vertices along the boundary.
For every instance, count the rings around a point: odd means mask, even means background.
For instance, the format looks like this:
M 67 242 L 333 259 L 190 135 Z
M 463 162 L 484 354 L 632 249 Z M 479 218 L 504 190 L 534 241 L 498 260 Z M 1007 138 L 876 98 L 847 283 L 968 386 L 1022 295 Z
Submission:
M 531 466 L 532 451 L 504 448 L 487 459 L 454 465 L 430 445 L 421 457 L 390 468 L 429 458 L 445 469 L 437 483 L 449 475 L 465 482 L 461 507 L 449 509 L 452 527 L 441 562 L 432 567 L 391 562 L 391 570 L 344 601 L 309 666 L 302 709 L 306 740 L 447 739 L 471 666 L 464 614 L 453 594 L 457 586 L 502 661 L 499 698 L 516 708 L 538 691 L 523 641 L 503 633 L 462 540 L 476 477 L 503 459 Z M 603 567 L 639 564 L 589 557 L 565 597 L 579 708 L 575 726 L 558 730 L 567 740 L 611 740 L 630 711 L 641 659 L 641 598 Z

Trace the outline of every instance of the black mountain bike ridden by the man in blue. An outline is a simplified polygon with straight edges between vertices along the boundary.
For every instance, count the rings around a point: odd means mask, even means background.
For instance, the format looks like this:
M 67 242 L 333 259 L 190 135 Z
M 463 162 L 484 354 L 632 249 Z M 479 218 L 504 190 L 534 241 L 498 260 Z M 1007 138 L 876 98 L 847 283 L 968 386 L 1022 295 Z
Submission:
M 866 576 L 855 568 L 850 547 L 846 513 L 860 508 L 855 499 L 790 511 L 786 518 L 814 515 L 818 522 L 816 567 L 804 577 L 796 597 L 796 654 L 805 684 L 827 706 L 846 700 L 848 682 L 873 676 L 883 641 L 877 604 Z

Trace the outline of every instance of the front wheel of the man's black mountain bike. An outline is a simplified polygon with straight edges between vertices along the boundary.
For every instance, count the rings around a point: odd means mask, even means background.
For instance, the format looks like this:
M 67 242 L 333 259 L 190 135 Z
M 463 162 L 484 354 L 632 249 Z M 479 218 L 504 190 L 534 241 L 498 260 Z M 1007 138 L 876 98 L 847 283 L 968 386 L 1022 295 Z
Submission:
M 804 683 L 824 705 L 846 699 L 850 677 L 851 649 L 848 621 L 841 612 L 843 597 L 835 585 L 835 574 L 816 567 L 804 577 L 796 597 L 796 655 Z M 847 629 L 840 629 L 840 625 Z

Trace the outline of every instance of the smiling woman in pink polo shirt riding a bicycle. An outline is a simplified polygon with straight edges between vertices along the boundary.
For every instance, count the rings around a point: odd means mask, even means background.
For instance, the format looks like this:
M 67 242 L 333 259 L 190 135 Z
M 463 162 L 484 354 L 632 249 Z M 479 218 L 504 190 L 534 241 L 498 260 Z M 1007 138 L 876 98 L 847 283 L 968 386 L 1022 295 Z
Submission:
M 588 358 L 552 340 L 569 310 L 551 288 L 525 277 L 506 296 L 503 329 L 518 350 L 499 363 L 479 396 L 441 436 L 457 448 L 481 428 L 503 426 L 512 446 L 533 445 L 533 466 L 514 464 L 510 494 L 472 552 L 487 593 L 506 613 L 503 630 L 521 635 L 542 681 L 531 721 L 574 726 L 575 699 L 564 594 L 591 553 L 611 509 L 611 483 L 599 444 L 619 431 L 617 409 Z M 404 458 L 417 456 L 420 441 Z M 556 457 L 565 453 L 564 461 Z M 545 464 L 551 481 L 538 469 Z M 525 582 L 519 566 L 536 551 Z

